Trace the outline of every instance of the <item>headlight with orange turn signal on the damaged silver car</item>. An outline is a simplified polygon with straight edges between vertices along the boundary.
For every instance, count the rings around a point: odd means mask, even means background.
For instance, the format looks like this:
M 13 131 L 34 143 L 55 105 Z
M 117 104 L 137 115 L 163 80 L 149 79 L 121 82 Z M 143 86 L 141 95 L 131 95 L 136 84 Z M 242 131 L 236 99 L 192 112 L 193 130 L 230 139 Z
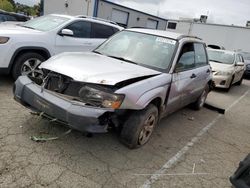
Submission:
M 89 86 L 84 86 L 80 89 L 79 97 L 87 104 L 113 109 L 118 109 L 124 99 L 124 95 L 101 91 Z

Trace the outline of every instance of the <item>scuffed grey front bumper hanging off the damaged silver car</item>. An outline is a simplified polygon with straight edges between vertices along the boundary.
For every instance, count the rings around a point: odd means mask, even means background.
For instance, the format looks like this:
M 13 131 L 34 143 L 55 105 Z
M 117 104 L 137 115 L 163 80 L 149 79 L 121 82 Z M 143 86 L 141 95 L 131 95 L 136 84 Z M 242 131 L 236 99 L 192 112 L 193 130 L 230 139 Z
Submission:
M 82 132 L 107 132 L 109 116 L 114 112 L 112 109 L 86 106 L 43 90 L 27 76 L 21 76 L 15 82 L 14 98 L 27 108 L 43 112 L 44 116 Z

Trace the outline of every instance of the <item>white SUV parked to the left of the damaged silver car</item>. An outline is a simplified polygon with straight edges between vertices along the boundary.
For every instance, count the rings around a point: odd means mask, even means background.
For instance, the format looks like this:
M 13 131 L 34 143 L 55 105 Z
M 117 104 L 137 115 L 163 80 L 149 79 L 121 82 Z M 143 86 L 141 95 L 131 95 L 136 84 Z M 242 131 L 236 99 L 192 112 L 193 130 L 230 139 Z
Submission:
M 47 15 L 22 25 L 0 24 L 0 73 L 40 77 L 41 62 L 61 52 L 91 51 L 123 28 L 85 16 Z

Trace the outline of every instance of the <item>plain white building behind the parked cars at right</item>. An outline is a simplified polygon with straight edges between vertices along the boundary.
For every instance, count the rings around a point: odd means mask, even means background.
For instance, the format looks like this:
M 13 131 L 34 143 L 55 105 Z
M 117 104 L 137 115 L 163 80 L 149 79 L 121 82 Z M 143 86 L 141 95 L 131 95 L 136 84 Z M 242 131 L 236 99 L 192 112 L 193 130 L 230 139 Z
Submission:
M 169 20 L 167 30 L 202 38 L 208 45 L 228 50 L 250 52 L 250 28 L 232 25 L 198 23 L 191 20 Z

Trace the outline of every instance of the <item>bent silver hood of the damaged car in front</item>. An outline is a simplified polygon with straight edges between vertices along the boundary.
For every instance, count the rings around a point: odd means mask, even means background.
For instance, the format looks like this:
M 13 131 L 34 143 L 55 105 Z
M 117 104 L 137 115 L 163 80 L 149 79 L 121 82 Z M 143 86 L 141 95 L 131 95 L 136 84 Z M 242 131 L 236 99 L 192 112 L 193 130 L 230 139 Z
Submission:
M 76 81 L 104 85 L 161 73 L 93 52 L 62 53 L 42 63 L 40 68 L 69 76 Z

